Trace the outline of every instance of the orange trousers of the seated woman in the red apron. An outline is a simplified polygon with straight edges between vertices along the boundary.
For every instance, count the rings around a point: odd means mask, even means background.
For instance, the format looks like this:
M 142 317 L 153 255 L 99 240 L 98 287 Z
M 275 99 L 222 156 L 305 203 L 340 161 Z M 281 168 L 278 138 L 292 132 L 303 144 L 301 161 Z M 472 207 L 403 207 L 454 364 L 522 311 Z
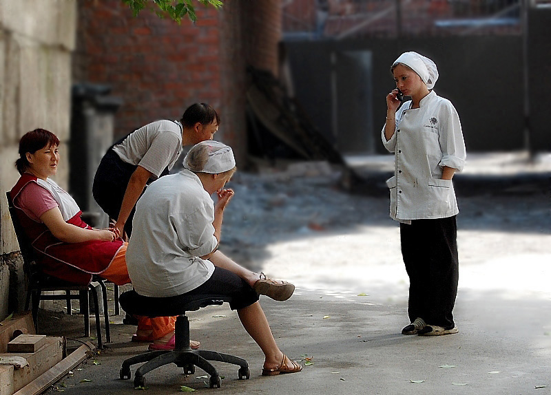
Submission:
M 101 273 L 102 278 L 112 281 L 118 286 L 130 284 L 131 282 L 128 275 L 128 269 L 126 267 L 125 254 L 127 246 L 128 243 L 125 243 L 118 249 L 111 265 L 107 268 L 107 270 Z M 147 337 L 148 339 L 151 339 L 151 341 L 160 339 L 165 336 L 165 334 L 174 331 L 176 317 L 135 317 L 138 319 L 138 330 L 136 331 L 136 334 L 139 332 L 140 334 L 138 336 Z M 149 333 L 151 334 L 150 336 Z

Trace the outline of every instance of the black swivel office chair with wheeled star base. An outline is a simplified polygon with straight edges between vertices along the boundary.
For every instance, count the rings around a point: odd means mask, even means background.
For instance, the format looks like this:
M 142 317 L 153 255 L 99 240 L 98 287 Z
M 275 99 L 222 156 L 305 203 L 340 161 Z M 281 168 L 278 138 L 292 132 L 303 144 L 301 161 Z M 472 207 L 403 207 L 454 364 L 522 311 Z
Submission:
M 219 361 L 239 365 L 239 379 L 246 379 L 250 376 L 249 364 L 245 359 L 237 356 L 222 354 L 216 351 L 191 350 L 189 348 L 189 321 L 185 312 L 199 310 L 199 308 L 209 305 L 220 305 L 231 301 L 230 297 L 221 295 L 202 295 L 189 297 L 183 304 L 178 306 L 167 306 L 163 303 L 165 298 L 144 297 L 138 295 L 136 291 L 124 292 L 119 300 L 123 310 L 130 314 L 141 315 L 145 317 L 174 317 L 176 319 L 176 347 L 174 350 L 150 351 L 144 354 L 132 356 L 123 362 L 121 367 L 121 379 L 130 378 L 130 366 L 135 363 L 145 362 L 138 367 L 134 374 L 134 387 L 145 386 L 144 374 L 156 369 L 157 367 L 175 363 L 178 367 L 183 367 L 184 374 L 194 374 L 195 367 L 198 366 L 210 375 L 209 385 L 211 388 L 220 388 L 220 376 L 216 368 L 209 361 Z

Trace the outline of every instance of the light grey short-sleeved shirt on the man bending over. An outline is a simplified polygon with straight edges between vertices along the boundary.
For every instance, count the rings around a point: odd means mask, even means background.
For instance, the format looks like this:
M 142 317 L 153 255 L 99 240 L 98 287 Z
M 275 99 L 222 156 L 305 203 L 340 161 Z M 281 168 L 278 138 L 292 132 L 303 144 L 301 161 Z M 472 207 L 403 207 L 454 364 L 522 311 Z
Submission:
M 156 178 L 166 167 L 172 169 L 182 152 L 182 124 L 176 120 L 157 120 L 133 131 L 115 145 L 123 162 L 139 165 Z

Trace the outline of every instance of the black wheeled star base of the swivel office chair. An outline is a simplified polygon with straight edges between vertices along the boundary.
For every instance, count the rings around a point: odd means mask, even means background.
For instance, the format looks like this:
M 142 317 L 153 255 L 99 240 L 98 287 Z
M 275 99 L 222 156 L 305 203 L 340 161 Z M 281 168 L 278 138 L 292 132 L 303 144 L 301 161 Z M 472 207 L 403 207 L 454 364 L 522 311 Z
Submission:
M 183 367 L 184 374 L 194 374 L 195 367 L 200 367 L 209 374 L 209 385 L 211 388 L 220 388 L 220 376 L 216 371 L 216 368 L 209 361 L 218 361 L 225 363 L 232 363 L 233 365 L 240 366 L 238 370 L 238 377 L 240 380 L 248 379 L 251 375 L 249 371 L 249 364 L 245 359 L 239 358 L 229 354 L 223 354 L 216 351 L 207 350 L 158 350 L 146 352 L 132 356 L 123 362 L 121 367 L 120 377 L 121 379 L 130 378 L 130 366 L 145 362 L 141 367 L 138 367 L 134 374 L 134 388 L 145 386 L 144 375 L 157 367 L 168 365 L 169 363 L 175 363 L 178 367 Z

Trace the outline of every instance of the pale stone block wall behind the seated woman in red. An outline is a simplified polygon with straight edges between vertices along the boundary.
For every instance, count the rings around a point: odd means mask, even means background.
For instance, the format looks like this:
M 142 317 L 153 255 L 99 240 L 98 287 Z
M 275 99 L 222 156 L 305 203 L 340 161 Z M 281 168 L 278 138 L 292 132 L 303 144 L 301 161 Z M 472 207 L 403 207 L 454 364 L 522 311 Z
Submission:
M 0 0 L 0 319 L 11 312 L 10 278 L 12 300 L 19 309 L 24 302 L 21 257 L 6 202 L 6 191 L 19 178 L 14 161 L 23 134 L 40 127 L 58 136 L 56 182 L 67 187 L 75 39 L 76 0 Z

